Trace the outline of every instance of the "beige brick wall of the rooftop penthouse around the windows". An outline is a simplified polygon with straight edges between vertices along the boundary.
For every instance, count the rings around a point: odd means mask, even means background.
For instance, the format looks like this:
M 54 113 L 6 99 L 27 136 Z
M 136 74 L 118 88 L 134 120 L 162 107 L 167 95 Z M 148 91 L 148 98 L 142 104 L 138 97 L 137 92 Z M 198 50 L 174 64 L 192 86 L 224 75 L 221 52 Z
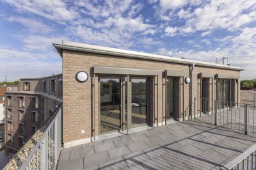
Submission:
M 189 77 L 190 68 L 189 65 L 167 63 L 163 61 L 131 59 L 63 50 L 63 143 L 92 137 L 92 132 L 95 132 L 95 135 L 98 135 L 98 75 L 95 75 L 94 81 L 93 66 L 159 70 L 158 80 L 157 77 L 154 77 L 154 82 L 156 83 L 158 81 L 158 84 L 155 86 L 154 94 L 152 94 L 155 104 L 154 108 L 151 108 L 152 111 L 154 110 L 154 114 L 158 112 L 158 123 L 163 121 L 165 109 L 164 70 L 184 71 L 184 77 Z M 77 82 L 75 79 L 76 73 L 82 70 L 89 75 L 88 81 L 84 83 Z M 198 73 L 200 72 L 225 75 L 240 74 L 239 71 L 234 70 L 195 66 L 194 97 L 200 97 L 200 86 L 198 86 Z M 181 114 L 183 113 L 183 109 L 184 116 L 188 117 L 189 115 L 189 84 L 185 84 L 183 80 L 184 79 L 181 77 L 178 81 L 180 96 L 180 104 L 178 107 L 179 115 L 176 115 L 178 118 L 182 118 Z M 94 86 L 92 86 L 93 84 Z M 156 88 L 158 89 L 158 94 L 156 93 Z M 157 100 L 158 105 L 156 105 Z M 94 123 L 95 129 L 93 125 Z M 81 134 L 81 130 L 84 130 L 85 133 Z

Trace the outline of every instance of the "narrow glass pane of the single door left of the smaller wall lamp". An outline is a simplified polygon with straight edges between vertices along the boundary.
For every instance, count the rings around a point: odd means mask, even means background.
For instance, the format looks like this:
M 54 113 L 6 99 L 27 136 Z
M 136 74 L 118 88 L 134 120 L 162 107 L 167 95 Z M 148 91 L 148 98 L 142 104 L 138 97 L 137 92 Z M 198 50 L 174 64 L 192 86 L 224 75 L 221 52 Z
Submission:
M 173 97 L 174 97 L 174 79 L 167 79 L 167 93 L 166 93 L 166 111 L 167 119 L 173 118 Z

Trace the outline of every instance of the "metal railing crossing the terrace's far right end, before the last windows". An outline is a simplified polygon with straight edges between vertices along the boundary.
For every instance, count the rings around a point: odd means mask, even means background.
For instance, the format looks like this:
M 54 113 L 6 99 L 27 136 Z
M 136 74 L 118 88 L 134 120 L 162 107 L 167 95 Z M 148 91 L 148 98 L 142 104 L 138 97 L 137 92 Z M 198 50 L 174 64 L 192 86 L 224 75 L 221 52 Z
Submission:
M 254 135 L 255 110 L 253 104 L 195 98 L 193 116 L 197 120 Z

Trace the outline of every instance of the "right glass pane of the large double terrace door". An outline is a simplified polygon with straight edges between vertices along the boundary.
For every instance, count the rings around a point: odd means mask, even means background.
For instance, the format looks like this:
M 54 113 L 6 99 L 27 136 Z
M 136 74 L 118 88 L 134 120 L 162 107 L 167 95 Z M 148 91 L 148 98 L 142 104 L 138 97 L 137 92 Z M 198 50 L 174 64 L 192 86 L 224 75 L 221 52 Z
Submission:
M 131 79 L 132 127 L 147 124 L 147 79 Z

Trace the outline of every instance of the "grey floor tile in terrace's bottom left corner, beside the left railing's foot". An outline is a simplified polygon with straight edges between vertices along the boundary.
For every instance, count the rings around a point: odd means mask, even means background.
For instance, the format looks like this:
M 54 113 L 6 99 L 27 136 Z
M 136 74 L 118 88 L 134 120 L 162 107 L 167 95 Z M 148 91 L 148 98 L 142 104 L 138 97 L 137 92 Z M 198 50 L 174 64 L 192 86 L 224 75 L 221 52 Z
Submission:
M 58 164 L 58 169 L 60 170 L 84 169 L 83 158 L 77 158 L 76 160 L 71 160 L 68 162 L 64 162 L 62 164 Z

